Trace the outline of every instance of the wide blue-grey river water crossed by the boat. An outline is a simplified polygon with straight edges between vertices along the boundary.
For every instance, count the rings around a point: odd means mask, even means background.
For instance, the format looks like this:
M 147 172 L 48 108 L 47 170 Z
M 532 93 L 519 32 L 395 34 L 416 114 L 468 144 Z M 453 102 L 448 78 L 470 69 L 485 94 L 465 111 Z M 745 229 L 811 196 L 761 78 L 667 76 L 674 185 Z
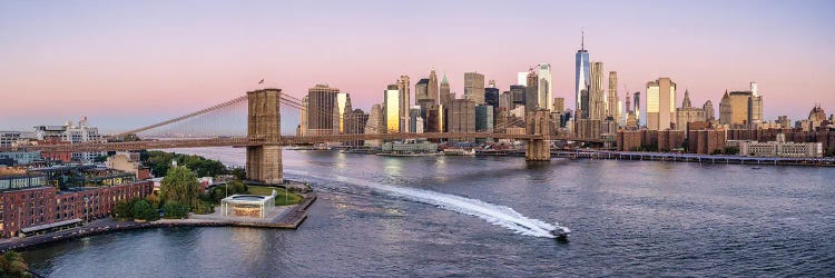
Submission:
M 50 277 L 835 276 L 831 168 L 289 150 L 284 167 L 320 197 L 297 230 L 153 229 L 23 256 Z

